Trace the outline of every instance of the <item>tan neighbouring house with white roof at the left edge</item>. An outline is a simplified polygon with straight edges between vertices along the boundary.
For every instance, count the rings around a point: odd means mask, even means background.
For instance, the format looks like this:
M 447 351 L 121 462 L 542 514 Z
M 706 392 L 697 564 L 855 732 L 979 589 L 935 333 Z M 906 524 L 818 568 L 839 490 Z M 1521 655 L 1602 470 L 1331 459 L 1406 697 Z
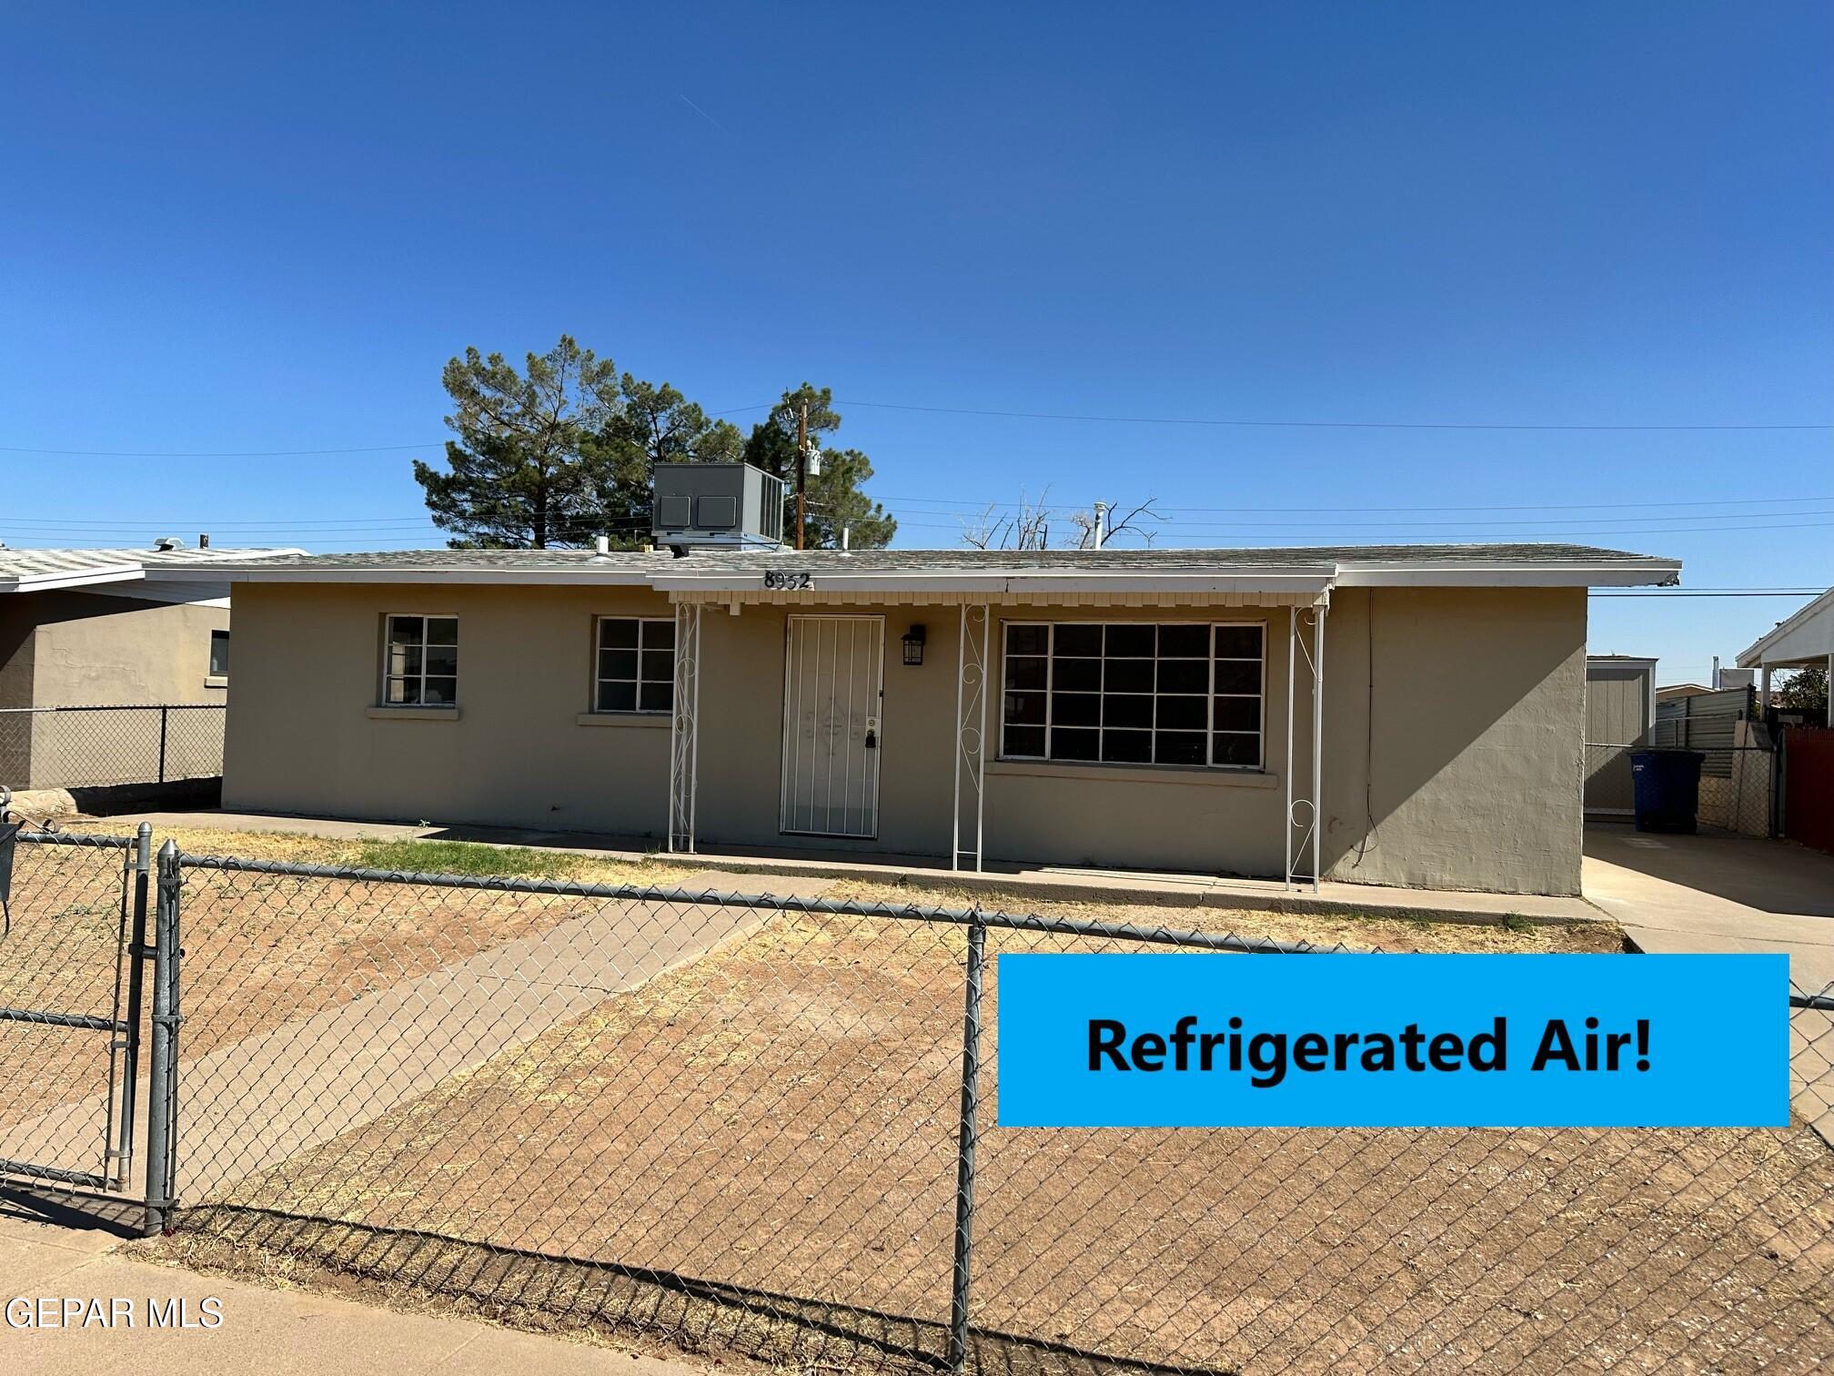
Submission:
M 171 572 L 248 565 L 273 552 L 297 554 L 171 541 L 145 550 L 0 547 L 0 783 L 88 783 L 79 774 L 105 758 L 108 782 L 136 772 L 150 780 L 158 739 L 143 716 L 53 723 L 46 708 L 222 706 L 229 585 L 174 582 Z M 145 769 L 139 756 L 147 756 Z

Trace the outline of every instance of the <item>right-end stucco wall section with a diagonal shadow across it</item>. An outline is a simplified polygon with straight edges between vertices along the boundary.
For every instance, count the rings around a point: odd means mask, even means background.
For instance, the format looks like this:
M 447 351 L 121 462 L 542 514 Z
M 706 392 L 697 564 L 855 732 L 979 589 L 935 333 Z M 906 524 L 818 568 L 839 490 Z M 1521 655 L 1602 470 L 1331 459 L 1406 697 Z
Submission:
M 1583 589 L 1339 594 L 1328 873 L 1577 893 L 1585 638 Z

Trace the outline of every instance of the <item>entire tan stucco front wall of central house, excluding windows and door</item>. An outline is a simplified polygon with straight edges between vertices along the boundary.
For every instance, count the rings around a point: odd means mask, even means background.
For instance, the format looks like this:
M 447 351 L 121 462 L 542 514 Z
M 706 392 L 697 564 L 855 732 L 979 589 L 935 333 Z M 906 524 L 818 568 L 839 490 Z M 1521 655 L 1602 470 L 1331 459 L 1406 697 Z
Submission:
M 501 585 L 237 589 L 224 802 L 332 816 L 666 835 L 668 717 L 581 725 L 596 616 L 666 616 L 647 589 Z M 457 717 L 378 710 L 387 613 L 455 615 Z M 880 826 L 871 842 L 785 837 L 789 607 L 710 607 L 701 655 L 704 842 L 946 855 L 956 607 L 884 618 Z M 1264 772 L 990 761 L 990 859 L 1276 875 L 1282 864 L 1286 609 L 994 609 L 998 620 L 1265 620 Z M 923 666 L 899 640 L 928 629 Z M 994 682 L 1000 681 L 996 629 Z M 1298 699 L 1298 765 L 1309 714 Z M 1585 593 L 1339 591 L 1326 622 L 1324 833 L 1331 877 L 1574 893 Z M 998 697 L 989 730 L 998 739 Z

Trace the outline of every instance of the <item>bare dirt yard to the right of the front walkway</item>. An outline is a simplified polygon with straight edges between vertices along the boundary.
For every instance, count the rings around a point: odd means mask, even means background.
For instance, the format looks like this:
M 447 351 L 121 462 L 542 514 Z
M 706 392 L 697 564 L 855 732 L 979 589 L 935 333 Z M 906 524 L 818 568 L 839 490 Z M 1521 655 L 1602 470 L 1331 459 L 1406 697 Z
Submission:
M 198 1202 L 361 1226 L 332 1251 L 457 1238 L 934 1336 L 963 949 L 952 927 L 772 917 Z M 1834 1158 L 1805 1130 L 987 1126 L 979 1165 L 978 1325 L 1077 1352 L 1251 1372 L 1834 1358 Z

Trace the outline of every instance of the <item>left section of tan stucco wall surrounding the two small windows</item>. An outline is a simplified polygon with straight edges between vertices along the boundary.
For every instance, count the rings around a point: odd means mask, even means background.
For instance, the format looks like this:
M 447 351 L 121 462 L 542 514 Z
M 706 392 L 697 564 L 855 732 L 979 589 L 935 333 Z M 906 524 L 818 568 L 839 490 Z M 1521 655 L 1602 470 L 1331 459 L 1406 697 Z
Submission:
M 455 719 L 374 710 L 387 613 L 458 616 Z M 224 805 L 666 835 L 669 719 L 576 719 L 592 618 L 668 615 L 646 589 L 238 585 Z

